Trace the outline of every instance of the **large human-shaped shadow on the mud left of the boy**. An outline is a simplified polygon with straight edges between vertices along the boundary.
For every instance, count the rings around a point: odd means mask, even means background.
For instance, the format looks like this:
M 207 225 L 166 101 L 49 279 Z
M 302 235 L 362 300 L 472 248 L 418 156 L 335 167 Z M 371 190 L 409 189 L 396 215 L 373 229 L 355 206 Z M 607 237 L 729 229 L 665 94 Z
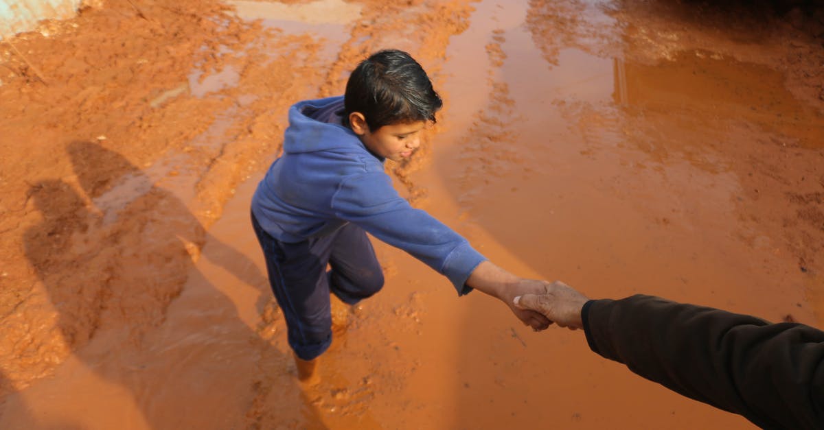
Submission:
M 185 203 L 119 153 L 89 142 L 68 143 L 67 152 L 76 184 L 31 185 L 41 220 L 26 231 L 26 256 L 69 350 L 124 388 L 140 415 L 132 421 L 225 428 L 241 425 L 227 419 L 244 419 L 255 428 L 266 414 L 261 405 L 277 400 L 297 411 L 295 426 L 323 428 L 288 372 L 291 358 L 241 320 L 232 298 L 195 264 L 203 255 L 231 274 L 229 287 L 271 297 L 258 266 L 210 236 Z M 60 395 L 50 401 L 72 401 L 73 383 L 53 386 Z

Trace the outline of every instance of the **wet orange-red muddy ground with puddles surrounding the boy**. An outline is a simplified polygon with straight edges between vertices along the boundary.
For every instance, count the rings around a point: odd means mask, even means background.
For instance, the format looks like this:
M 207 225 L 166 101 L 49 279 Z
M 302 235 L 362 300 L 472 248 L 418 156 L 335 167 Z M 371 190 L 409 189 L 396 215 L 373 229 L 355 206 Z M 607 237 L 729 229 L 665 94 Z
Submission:
M 719 3 L 107 0 L 0 41 L 0 428 L 751 428 L 377 241 L 303 389 L 248 220 L 288 106 L 400 48 L 445 106 L 387 169 L 489 259 L 822 326 L 824 7 Z

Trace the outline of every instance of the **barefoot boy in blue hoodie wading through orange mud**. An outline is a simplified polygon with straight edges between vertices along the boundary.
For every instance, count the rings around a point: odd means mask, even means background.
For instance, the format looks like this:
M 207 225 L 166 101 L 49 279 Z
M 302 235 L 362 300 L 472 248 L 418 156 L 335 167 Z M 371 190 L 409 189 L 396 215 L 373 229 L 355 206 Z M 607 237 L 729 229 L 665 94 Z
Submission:
M 283 156 L 260 181 L 251 213 L 301 381 L 316 381 L 316 358 L 331 344 L 330 293 L 354 305 L 383 286 L 366 231 L 445 275 L 459 295 L 475 288 L 502 300 L 534 330 L 550 325 L 512 304 L 513 297 L 543 292 L 541 281 L 489 262 L 400 198 L 384 171 L 387 158 L 401 161 L 419 147 L 441 105 L 419 63 L 383 50 L 358 64 L 344 96 L 289 110 Z

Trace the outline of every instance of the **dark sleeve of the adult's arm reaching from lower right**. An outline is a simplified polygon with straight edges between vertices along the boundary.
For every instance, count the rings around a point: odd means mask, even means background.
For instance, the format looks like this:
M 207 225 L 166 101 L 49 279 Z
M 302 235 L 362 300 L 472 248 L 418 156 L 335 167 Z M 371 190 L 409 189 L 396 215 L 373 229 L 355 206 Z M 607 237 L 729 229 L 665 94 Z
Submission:
M 824 428 L 824 332 L 633 296 L 588 301 L 592 351 L 761 428 Z

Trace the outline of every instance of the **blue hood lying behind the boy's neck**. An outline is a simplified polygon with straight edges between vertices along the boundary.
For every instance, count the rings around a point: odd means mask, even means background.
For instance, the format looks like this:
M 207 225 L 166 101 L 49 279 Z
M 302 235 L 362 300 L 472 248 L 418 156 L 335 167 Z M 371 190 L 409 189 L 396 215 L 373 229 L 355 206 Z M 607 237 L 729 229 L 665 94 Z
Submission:
M 289 109 L 289 127 L 283 133 L 283 152 L 363 151 L 358 135 L 339 124 L 343 110 L 344 96 L 304 100 L 293 105 Z M 330 122 L 333 120 L 335 122 Z

